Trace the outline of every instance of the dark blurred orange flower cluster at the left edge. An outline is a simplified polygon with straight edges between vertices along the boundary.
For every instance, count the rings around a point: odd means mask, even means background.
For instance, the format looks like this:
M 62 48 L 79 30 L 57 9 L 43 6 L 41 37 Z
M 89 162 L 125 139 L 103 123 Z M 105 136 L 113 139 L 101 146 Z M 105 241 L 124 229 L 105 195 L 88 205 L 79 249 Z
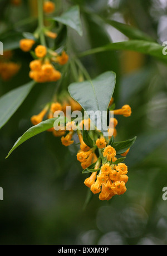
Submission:
M 0 59 L 0 77 L 4 81 L 11 79 L 21 68 L 21 65 L 9 60 L 11 57 L 11 51 L 4 51 L 4 55 Z

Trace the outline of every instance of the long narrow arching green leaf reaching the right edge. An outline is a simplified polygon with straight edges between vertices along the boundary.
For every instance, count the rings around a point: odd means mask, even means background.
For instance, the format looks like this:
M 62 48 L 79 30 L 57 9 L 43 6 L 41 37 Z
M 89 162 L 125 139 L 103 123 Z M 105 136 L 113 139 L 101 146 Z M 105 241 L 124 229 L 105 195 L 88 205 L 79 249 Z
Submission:
M 81 53 L 79 56 L 86 56 L 90 54 L 101 53 L 103 51 L 109 50 L 128 50 L 128 51 L 137 51 L 138 53 L 147 54 L 158 58 L 167 64 L 166 56 L 163 55 L 164 47 L 156 42 L 149 42 L 144 40 L 130 40 L 122 42 L 114 42 L 113 44 L 107 44 L 99 48 L 87 50 Z

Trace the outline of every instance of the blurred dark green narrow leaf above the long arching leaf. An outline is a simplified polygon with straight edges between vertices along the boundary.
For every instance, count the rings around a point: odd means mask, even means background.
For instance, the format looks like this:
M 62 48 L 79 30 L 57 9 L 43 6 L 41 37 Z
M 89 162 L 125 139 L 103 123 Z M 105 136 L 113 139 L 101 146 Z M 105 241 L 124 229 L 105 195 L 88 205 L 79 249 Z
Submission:
M 145 34 L 143 31 L 133 27 L 131 25 L 127 25 L 121 22 L 117 22 L 114 20 L 104 19 L 104 21 L 110 24 L 115 29 L 119 30 L 122 34 L 129 37 L 129 39 L 133 40 L 146 40 L 146 41 L 154 41 L 149 35 Z

